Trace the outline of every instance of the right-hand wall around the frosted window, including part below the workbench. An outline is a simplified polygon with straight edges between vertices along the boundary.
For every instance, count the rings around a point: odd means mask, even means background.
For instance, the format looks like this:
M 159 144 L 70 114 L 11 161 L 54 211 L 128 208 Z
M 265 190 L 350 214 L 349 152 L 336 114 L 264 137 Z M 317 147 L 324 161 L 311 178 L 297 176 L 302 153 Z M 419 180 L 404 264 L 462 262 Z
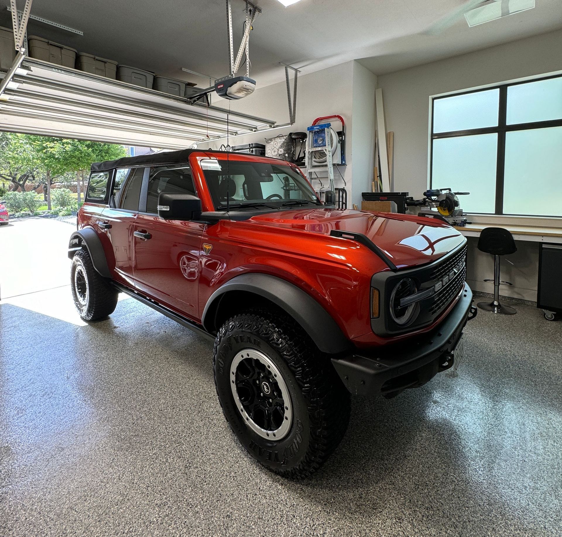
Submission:
M 393 189 L 421 197 L 427 188 L 429 96 L 496 84 L 562 69 L 562 30 L 482 51 L 463 54 L 378 77 L 383 89 L 388 131 L 395 133 Z M 448 186 L 448 185 L 443 185 Z M 461 200 L 462 204 L 462 200 Z M 474 289 L 491 293 L 492 256 L 479 252 L 476 240 L 469 240 L 467 280 Z M 507 256 L 514 266 L 502 263 L 502 279 L 514 286 L 500 293 L 536 300 L 538 244 L 517 242 L 518 252 Z

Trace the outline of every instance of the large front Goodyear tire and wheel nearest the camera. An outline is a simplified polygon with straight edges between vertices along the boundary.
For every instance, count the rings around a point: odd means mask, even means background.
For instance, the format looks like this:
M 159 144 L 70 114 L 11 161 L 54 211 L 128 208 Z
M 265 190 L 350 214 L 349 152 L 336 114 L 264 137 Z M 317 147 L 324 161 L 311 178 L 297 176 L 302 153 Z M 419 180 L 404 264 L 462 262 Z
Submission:
M 341 442 L 350 394 L 329 358 L 284 313 L 230 318 L 216 336 L 213 363 L 226 420 L 262 465 L 306 477 Z

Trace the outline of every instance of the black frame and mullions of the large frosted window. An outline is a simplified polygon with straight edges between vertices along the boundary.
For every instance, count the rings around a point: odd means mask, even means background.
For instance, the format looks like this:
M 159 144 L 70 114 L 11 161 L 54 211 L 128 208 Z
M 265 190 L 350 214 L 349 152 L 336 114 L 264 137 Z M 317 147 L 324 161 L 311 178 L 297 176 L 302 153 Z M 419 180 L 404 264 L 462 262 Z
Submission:
M 473 88 L 461 92 L 452 92 L 443 95 L 432 95 L 430 97 L 430 126 L 429 126 L 429 188 L 433 188 L 433 141 L 442 138 L 454 138 L 457 136 L 470 136 L 477 134 L 497 134 L 497 154 L 496 154 L 496 192 L 495 192 L 495 211 L 489 212 L 470 212 L 473 215 L 490 215 L 490 216 L 518 216 L 518 217 L 542 217 L 542 218 L 558 218 L 552 215 L 521 215 L 518 213 L 504 213 L 504 180 L 505 180 L 505 139 L 506 133 L 521 130 L 531 129 L 545 129 L 550 127 L 562 126 L 562 118 L 554 120 L 531 121 L 526 123 L 518 123 L 507 125 L 507 88 L 520 84 L 529 84 L 542 80 L 550 80 L 555 78 L 562 78 L 562 72 L 556 74 L 549 74 L 539 76 L 536 78 L 527 78 L 516 80 L 513 82 L 505 82 L 502 84 L 488 85 L 479 88 Z M 470 93 L 485 92 L 491 89 L 498 89 L 499 103 L 498 103 L 498 124 L 493 127 L 483 127 L 478 129 L 465 129 L 448 131 L 445 133 L 434 133 L 433 131 L 433 116 L 434 116 L 434 103 L 438 99 L 446 99 L 448 97 L 456 97 L 457 95 L 467 95 Z M 441 188 L 445 188 L 441 185 Z

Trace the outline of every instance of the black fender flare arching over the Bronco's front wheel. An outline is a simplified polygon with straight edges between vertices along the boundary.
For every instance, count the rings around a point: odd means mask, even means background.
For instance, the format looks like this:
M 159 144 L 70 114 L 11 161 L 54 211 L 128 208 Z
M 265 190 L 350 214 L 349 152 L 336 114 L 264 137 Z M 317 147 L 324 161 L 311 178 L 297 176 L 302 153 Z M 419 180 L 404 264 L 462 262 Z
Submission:
M 215 324 L 220 298 L 230 291 L 254 293 L 273 302 L 302 326 L 320 351 L 336 354 L 351 347 L 336 321 L 314 298 L 296 285 L 269 274 L 241 274 L 220 286 L 209 298 L 202 315 L 202 325 L 209 332 Z

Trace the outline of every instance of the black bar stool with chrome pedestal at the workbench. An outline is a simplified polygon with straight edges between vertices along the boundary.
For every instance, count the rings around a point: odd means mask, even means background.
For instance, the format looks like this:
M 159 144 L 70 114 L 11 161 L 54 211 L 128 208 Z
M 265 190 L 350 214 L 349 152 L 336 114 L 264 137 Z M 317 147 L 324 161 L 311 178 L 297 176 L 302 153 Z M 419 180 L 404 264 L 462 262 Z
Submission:
M 509 281 L 500 280 L 500 256 L 506 256 L 517 251 L 513 236 L 503 227 L 485 227 L 478 239 L 478 249 L 494 256 L 494 277 L 493 280 L 484 280 L 493 282 L 493 301 L 478 302 L 477 306 L 481 310 L 491 311 L 492 313 L 514 315 L 514 313 L 517 313 L 515 308 L 500 304 L 500 285 L 513 285 Z

